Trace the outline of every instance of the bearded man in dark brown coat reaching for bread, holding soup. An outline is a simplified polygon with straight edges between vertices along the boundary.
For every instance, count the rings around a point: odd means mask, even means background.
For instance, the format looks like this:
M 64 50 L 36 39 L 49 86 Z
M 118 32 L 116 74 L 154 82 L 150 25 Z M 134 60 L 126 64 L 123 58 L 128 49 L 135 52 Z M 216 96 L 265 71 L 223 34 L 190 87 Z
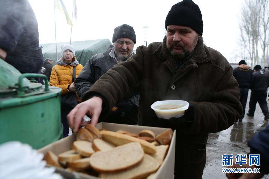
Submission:
M 232 67 L 218 51 L 203 44 L 203 20 L 192 0 L 172 6 L 163 42 L 140 46 L 126 62 L 107 71 L 67 116 L 77 132 L 89 114 L 96 125 L 121 99 L 140 92 L 138 124 L 177 130 L 174 178 L 202 178 L 208 133 L 229 128 L 242 114 Z M 160 119 L 151 109 L 160 100 L 185 100 L 179 118 Z

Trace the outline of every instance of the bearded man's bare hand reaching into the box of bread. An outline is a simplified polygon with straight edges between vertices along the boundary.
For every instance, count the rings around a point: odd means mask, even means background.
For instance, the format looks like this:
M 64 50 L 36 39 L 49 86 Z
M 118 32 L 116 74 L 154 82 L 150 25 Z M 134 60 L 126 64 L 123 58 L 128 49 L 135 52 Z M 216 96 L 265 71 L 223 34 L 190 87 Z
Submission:
M 78 131 L 80 123 L 86 114 L 91 116 L 91 120 L 88 123 L 96 126 L 102 111 L 102 103 L 103 100 L 100 97 L 95 96 L 89 100 L 81 102 L 80 104 L 76 105 L 72 111 L 70 111 L 70 113 L 67 115 L 67 120 L 74 133 Z

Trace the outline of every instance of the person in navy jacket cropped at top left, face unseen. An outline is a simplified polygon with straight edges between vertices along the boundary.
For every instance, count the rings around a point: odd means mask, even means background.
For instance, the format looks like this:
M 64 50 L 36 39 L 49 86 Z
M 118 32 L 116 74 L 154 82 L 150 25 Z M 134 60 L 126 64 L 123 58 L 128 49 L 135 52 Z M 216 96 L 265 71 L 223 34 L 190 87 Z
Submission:
M 28 1 L 0 1 L 0 57 L 21 73 L 43 65 L 37 19 Z M 39 82 L 43 84 L 43 79 Z

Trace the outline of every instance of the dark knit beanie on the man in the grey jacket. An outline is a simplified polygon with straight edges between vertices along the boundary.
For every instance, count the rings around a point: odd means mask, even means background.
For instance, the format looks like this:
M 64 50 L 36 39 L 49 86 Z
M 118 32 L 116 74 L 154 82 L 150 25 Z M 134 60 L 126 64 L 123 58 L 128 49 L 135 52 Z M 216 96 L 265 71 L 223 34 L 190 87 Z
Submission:
M 112 43 L 114 43 L 117 39 L 120 38 L 128 38 L 136 44 L 136 34 L 133 30 L 133 27 L 127 24 L 120 25 L 114 29 Z

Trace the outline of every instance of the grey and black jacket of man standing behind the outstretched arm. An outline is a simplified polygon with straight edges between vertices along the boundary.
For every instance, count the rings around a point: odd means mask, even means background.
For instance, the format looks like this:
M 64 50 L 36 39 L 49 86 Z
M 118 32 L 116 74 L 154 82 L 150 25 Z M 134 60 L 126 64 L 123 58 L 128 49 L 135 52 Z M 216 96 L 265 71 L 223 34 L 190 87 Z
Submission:
M 92 56 L 74 82 L 79 97 L 82 99 L 92 85 L 115 64 L 118 64 L 118 61 L 115 57 L 114 48 L 109 48 L 104 53 Z M 136 94 L 128 100 L 121 100 L 119 103 L 124 103 L 121 108 L 101 120 L 110 123 L 137 124 L 139 97 L 140 95 Z M 115 106 L 119 107 L 119 103 Z

